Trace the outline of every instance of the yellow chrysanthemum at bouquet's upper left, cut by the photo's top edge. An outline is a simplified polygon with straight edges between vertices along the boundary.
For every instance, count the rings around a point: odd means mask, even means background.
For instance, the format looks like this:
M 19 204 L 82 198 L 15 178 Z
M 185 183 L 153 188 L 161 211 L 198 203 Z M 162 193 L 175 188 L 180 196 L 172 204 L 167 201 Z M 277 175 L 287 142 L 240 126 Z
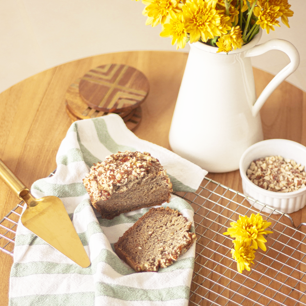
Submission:
M 148 16 L 146 25 L 151 24 L 152 27 L 159 23 L 169 23 L 170 12 L 180 13 L 182 5 L 178 0 L 142 0 L 146 5 L 142 14 Z

